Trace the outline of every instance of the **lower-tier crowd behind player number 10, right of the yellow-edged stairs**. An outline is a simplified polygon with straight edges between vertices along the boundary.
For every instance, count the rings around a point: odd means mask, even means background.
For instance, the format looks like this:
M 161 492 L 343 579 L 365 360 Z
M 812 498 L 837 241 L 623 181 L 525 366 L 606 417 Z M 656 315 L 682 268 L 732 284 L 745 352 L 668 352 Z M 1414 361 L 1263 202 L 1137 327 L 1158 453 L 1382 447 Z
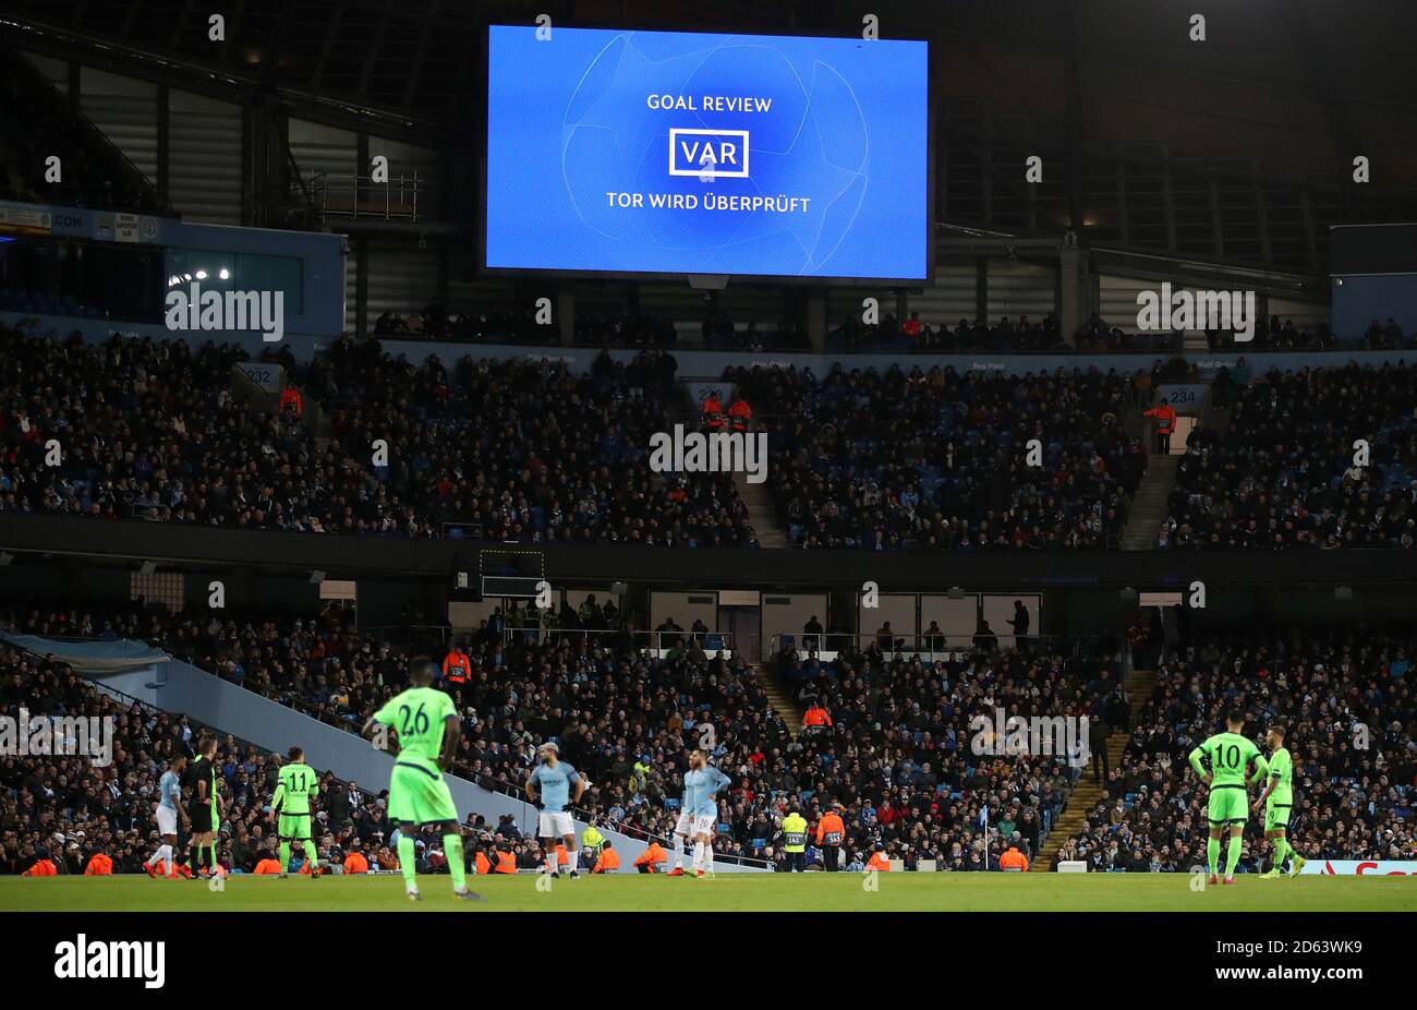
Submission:
M 1197 636 L 1170 650 L 1108 772 L 1087 827 L 1060 858 L 1091 870 L 1189 872 L 1206 864 L 1207 790 L 1187 767 L 1193 748 L 1247 715 L 1261 740 L 1287 726 L 1294 760 L 1289 844 L 1308 860 L 1410 860 L 1417 851 L 1417 742 L 1410 627 L 1284 628 Z M 1261 745 L 1263 749 L 1263 745 Z M 1251 799 L 1258 792 L 1251 792 Z M 1241 867 L 1268 867 L 1251 818 Z

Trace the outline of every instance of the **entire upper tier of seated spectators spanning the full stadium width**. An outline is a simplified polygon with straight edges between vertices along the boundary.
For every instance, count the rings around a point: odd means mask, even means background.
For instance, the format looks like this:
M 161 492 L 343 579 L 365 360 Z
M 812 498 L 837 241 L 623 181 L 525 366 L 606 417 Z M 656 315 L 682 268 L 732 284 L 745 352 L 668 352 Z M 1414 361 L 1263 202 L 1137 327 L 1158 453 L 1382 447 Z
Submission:
M 577 373 L 418 365 L 341 338 L 307 363 L 271 359 L 289 380 L 279 401 L 237 382 L 242 359 L 0 325 L 0 511 L 543 545 L 774 532 L 803 548 L 1095 550 L 1118 545 L 1151 458 L 1141 413 L 1159 384 L 1196 382 L 1182 359 L 1129 376 L 730 369 L 720 384 L 768 440 L 757 501 L 754 475 L 653 465 L 652 440 L 706 424 L 667 350 Z M 1192 433 L 1163 546 L 1411 546 L 1406 366 L 1241 363 L 1220 370 L 1216 403 L 1233 416 Z

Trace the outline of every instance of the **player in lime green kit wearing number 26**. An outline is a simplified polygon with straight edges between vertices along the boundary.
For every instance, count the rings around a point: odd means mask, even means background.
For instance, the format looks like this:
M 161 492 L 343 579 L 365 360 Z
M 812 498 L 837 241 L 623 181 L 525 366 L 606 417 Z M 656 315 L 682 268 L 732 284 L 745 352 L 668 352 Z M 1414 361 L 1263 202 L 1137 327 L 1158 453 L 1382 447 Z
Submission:
M 364 736 L 376 740 L 376 746 L 380 726 L 390 731 L 385 739 L 387 749 L 394 755 L 394 770 L 388 776 L 388 818 L 398 826 L 398 865 L 404 871 L 404 887 L 411 901 L 419 899 L 414 830 L 442 826 L 453 895 L 483 901 L 482 895 L 468 889 L 458 807 L 442 777 L 458 752 L 458 709 L 452 698 L 431 687 L 434 661 L 427 655 L 410 660 L 408 679 L 412 687 L 390 699 L 364 723 Z

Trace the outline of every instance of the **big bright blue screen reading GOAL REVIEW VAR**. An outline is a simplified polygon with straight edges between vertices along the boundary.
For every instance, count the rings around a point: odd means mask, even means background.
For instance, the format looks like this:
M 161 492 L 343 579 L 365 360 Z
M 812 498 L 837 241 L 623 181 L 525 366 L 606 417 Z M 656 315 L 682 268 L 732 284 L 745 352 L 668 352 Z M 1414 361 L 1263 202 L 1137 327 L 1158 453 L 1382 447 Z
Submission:
M 925 281 L 924 41 L 493 26 L 487 270 Z

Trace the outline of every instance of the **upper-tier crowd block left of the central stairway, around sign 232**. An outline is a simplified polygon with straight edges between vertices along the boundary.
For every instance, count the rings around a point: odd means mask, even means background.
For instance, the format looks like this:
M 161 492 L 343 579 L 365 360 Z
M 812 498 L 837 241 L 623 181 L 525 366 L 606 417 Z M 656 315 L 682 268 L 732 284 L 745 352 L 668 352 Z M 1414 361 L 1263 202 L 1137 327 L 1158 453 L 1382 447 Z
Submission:
M 495 539 L 751 545 L 728 474 L 657 474 L 676 362 L 648 350 L 564 363 L 436 357 L 377 342 L 275 360 L 324 404 L 254 407 L 232 394 L 235 345 L 58 339 L 0 325 L 0 511 L 204 526 Z M 387 467 L 374 441 L 387 440 Z M 55 462 L 55 447 L 60 455 Z

